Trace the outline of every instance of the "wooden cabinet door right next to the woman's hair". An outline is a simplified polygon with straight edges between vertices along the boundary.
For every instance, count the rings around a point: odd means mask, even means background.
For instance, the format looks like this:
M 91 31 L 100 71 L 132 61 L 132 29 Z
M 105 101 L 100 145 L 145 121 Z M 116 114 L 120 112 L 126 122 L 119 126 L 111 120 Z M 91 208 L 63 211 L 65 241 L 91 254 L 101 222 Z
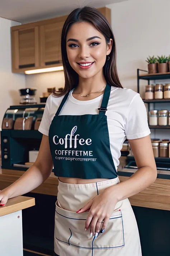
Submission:
M 40 26 L 41 66 L 62 63 L 60 42 L 63 24 L 64 21 Z

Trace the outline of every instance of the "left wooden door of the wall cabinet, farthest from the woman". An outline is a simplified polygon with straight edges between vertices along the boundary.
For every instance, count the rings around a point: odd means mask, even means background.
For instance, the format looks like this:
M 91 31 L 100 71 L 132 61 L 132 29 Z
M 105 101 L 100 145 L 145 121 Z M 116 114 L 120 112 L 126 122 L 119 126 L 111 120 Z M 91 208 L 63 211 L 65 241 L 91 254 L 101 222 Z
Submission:
M 17 27 L 16 30 L 11 28 L 12 71 L 18 73 L 37 69 L 39 67 L 38 27 L 25 29 Z

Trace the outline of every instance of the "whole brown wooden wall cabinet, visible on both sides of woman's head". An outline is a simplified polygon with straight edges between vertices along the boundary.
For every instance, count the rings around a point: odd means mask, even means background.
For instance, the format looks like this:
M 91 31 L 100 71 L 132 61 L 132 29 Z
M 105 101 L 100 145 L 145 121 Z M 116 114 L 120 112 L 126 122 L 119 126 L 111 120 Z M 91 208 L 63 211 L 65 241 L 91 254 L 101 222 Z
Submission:
M 107 7 L 98 9 L 111 22 Z M 11 27 L 12 71 L 62 65 L 61 31 L 67 16 Z

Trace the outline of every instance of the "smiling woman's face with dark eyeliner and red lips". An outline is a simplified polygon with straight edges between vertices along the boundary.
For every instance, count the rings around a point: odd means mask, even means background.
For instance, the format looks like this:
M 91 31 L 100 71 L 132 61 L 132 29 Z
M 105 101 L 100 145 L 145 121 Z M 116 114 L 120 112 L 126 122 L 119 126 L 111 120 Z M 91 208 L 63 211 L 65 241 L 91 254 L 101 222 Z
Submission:
M 112 49 L 105 37 L 89 22 L 74 23 L 66 38 L 67 57 L 71 67 L 82 78 L 90 78 L 100 71 Z

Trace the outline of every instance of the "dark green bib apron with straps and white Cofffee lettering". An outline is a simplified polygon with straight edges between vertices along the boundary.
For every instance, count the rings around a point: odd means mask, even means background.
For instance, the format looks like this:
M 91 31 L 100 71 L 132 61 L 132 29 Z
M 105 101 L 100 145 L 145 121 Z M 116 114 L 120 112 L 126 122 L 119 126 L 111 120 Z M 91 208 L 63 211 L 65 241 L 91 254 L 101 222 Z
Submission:
M 49 145 L 57 177 L 113 179 L 107 116 L 111 86 L 106 85 L 99 114 L 60 115 L 67 93 L 49 128 Z

